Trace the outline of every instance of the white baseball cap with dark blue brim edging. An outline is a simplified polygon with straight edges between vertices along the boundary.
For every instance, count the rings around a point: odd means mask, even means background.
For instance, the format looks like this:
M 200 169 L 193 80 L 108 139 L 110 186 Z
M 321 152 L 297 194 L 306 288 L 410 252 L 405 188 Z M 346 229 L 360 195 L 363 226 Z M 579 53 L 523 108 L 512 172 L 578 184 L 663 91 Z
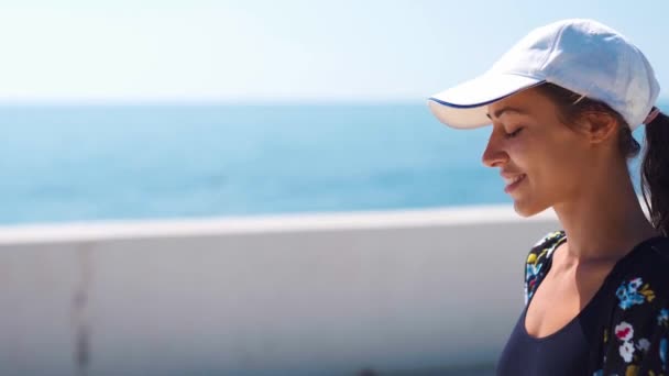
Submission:
M 491 123 L 487 104 L 544 82 L 608 104 L 633 131 L 660 90 L 650 63 L 625 36 L 571 19 L 533 30 L 486 73 L 431 96 L 428 106 L 449 126 L 479 128 Z

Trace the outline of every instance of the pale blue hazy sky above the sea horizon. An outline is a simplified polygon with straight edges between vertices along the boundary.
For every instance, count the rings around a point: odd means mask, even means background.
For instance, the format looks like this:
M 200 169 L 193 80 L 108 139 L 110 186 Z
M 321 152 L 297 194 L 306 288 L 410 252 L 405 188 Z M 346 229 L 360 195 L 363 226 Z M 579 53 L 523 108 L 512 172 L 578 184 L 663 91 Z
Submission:
M 639 2 L 641 3 L 641 2 Z M 423 101 L 534 27 L 592 18 L 669 98 L 669 2 L 0 1 L 0 102 Z

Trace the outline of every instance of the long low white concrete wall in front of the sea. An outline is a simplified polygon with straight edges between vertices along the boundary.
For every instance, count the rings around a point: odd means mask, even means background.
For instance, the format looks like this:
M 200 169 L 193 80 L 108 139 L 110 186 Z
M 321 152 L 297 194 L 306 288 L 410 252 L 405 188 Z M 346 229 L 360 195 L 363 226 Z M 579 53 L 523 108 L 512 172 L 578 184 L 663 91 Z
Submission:
M 0 375 L 493 363 L 557 229 L 511 207 L 0 228 Z

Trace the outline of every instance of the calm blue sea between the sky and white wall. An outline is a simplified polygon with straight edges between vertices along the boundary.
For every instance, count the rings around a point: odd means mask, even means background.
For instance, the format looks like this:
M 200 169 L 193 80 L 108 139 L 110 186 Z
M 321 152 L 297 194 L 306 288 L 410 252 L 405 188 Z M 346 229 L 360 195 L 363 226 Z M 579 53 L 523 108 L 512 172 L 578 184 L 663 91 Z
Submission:
M 2 224 L 511 203 L 481 164 L 490 128 L 451 130 L 423 102 L 24 106 L 0 121 Z

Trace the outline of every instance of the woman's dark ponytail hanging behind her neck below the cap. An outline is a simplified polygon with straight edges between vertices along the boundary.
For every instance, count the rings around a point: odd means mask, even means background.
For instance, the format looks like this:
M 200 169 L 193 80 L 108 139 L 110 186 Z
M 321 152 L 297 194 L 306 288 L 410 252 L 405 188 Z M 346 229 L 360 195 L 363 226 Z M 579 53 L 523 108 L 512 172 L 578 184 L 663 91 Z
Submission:
M 669 236 L 669 117 L 661 112 L 646 124 L 640 175 L 650 223 Z

